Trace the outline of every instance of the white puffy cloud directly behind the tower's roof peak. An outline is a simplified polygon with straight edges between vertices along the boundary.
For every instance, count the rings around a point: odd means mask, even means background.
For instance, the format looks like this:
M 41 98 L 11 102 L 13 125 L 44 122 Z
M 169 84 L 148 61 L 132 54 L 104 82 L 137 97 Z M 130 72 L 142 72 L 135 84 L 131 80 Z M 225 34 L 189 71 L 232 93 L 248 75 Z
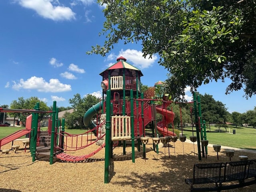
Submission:
M 123 56 L 129 61 L 131 61 L 134 66 L 136 66 L 139 69 L 148 68 L 153 65 L 153 63 L 157 60 L 157 56 L 153 55 L 152 58 L 149 58 L 149 56 L 146 56 L 146 58 L 143 57 L 143 53 L 138 50 L 134 49 L 127 49 L 127 50 L 121 50 L 118 54 L 118 57 Z

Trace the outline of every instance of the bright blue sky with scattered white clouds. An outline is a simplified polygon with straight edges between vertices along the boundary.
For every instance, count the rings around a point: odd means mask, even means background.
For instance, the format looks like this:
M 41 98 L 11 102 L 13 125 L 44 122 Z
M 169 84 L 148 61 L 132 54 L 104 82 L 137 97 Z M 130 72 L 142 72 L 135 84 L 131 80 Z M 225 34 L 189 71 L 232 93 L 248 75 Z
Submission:
M 96 0 L 0 1 L 0 105 L 37 96 L 48 106 L 53 100 L 57 106 L 70 106 L 68 100 L 77 93 L 101 96 L 99 74 L 119 56 L 142 71 L 144 85 L 166 80 L 159 57 L 143 58 L 140 44 L 116 44 L 106 57 L 86 54 L 106 40 L 98 36 L 103 9 Z M 226 104 L 229 112 L 256 106 L 256 96 L 246 100 L 242 90 L 225 95 L 227 85 L 228 80 L 214 82 L 198 91 Z

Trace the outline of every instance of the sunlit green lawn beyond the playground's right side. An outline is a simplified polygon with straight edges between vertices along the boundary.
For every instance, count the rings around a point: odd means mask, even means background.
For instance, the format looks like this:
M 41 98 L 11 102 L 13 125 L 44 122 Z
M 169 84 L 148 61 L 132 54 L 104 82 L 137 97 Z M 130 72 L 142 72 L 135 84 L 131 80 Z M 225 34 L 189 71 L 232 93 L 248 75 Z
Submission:
M 242 148 L 242 149 L 252 149 L 256 150 L 256 129 L 255 128 L 227 128 L 227 132 L 213 132 L 216 127 L 211 127 L 211 132 L 209 128 L 206 128 L 207 140 L 210 144 L 218 144 L 222 146 Z M 236 134 L 233 134 L 233 129 L 236 130 Z M 223 128 L 223 130 L 225 130 Z M 180 130 L 180 133 L 182 131 Z M 184 128 L 183 134 L 186 135 L 187 139 L 192 136 L 192 128 Z M 196 129 L 194 128 L 194 136 L 196 136 Z

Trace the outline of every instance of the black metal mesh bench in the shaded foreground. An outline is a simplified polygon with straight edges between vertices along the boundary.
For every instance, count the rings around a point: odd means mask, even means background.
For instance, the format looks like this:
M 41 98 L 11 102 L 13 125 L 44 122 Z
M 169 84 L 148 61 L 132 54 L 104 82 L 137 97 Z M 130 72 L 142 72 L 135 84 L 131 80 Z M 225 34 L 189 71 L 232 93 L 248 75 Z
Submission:
M 193 178 L 186 178 L 185 182 L 190 184 L 191 192 L 220 192 L 256 184 L 256 160 L 195 164 Z M 211 183 L 215 185 L 211 186 Z

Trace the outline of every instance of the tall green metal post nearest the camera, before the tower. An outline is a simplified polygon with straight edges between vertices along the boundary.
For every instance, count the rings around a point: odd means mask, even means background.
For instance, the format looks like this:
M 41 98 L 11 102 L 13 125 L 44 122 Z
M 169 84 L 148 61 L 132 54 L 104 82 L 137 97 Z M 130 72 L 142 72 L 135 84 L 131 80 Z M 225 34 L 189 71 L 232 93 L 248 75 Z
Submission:
M 108 183 L 109 178 L 109 162 L 110 162 L 110 101 L 111 94 L 110 90 L 107 90 L 106 98 L 106 141 L 105 141 L 105 170 L 104 170 L 104 183 Z

